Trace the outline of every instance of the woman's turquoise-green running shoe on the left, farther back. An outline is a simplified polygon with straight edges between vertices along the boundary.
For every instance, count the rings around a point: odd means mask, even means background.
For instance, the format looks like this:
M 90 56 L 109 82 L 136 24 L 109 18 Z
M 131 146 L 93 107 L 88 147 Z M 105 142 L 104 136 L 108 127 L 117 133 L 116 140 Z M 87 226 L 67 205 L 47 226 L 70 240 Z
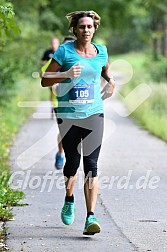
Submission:
M 74 221 L 74 202 L 65 201 L 61 211 L 61 219 L 65 225 L 71 225 Z

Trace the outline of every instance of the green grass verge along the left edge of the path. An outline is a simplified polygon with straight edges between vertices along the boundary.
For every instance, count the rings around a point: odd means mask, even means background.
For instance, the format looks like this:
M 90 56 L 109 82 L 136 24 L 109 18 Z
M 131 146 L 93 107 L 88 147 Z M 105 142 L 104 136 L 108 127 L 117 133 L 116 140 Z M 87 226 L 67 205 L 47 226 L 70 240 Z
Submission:
M 17 83 L 17 95 L 7 100 L 0 108 L 0 221 L 13 218 L 12 206 L 21 205 L 24 193 L 11 190 L 8 181 L 12 167 L 9 165 L 10 147 L 21 125 L 23 125 L 34 108 L 18 106 L 20 101 L 38 101 L 49 97 L 48 90 L 40 86 L 40 80 L 25 79 L 20 77 Z

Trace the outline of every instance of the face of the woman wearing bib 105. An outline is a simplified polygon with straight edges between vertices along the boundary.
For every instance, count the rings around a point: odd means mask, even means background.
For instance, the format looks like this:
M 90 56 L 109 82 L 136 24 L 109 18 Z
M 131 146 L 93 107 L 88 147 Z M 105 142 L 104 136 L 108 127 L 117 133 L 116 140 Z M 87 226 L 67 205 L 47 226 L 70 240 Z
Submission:
M 95 28 L 91 17 L 82 17 L 78 20 L 76 28 L 77 39 L 81 41 L 91 41 L 94 32 Z

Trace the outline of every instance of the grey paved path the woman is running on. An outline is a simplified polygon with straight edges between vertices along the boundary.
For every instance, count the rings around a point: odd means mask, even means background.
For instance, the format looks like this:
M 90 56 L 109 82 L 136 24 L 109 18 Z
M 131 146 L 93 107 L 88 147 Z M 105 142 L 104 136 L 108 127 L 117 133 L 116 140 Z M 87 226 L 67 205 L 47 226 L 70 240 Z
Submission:
M 24 190 L 28 205 L 15 207 L 15 220 L 7 224 L 10 251 L 167 251 L 167 145 L 133 119 L 119 116 L 115 111 L 122 105 L 115 98 L 105 104 L 96 208 L 102 232 L 82 235 L 86 214 L 82 167 L 75 189 L 75 222 L 62 224 L 63 175 L 53 165 L 56 122 L 32 117 L 11 150 L 14 186 Z M 38 110 L 35 117 L 46 111 Z

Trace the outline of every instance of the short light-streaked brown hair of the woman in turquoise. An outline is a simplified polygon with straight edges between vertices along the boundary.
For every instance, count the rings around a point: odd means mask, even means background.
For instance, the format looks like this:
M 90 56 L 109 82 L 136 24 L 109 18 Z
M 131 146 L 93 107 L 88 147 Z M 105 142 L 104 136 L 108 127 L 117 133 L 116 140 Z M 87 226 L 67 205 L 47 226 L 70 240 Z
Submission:
M 73 34 L 76 36 L 74 28 L 77 27 L 78 20 L 82 17 L 91 17 L 94 22 L 95 30 L 97 30 L 100 25 L 100 16 L 95 11 L 74 11 L 66 15 L 66 18 L 69 20 L 69 29 L 72 29 Z

